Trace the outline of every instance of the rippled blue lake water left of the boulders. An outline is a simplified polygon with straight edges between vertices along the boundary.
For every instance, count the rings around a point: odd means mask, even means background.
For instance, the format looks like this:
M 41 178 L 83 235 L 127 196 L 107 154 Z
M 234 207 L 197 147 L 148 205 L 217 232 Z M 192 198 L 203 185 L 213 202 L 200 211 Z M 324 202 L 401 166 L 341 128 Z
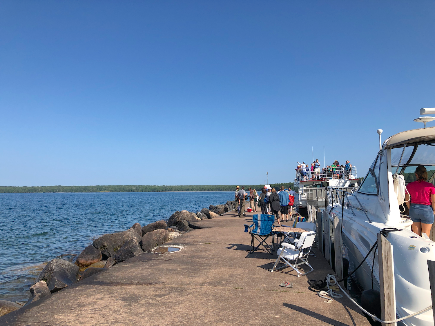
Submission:
M 0 193 L 0 300 L 27 301 L 45 263 L 104 233 L 234 200 L 228 192 Z

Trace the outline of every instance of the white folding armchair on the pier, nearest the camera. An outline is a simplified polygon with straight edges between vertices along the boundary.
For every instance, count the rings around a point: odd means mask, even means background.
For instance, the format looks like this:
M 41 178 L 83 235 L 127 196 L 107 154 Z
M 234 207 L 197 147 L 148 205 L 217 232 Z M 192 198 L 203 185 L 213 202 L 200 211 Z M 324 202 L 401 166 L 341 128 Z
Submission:
M 271 272 L 289 266 L 298 273 L 298 277 L 311 273 L 314 268 L 311 267 L 311 265 L 308 263 L 308 257 L 310 255 L 311 246 L 313 245 L 315 236 L 316 233 L 314 231 L 304 232 L 301 234 L 298 243 L 294 245 L 285 242 L 281 243 L 282 247 L 277 250 L 278 258 L 276 259 L 276 262 L 272 267 Z M 304 253 L 304 249 L 306 248 L 308 248 L 308 250 L 305 250 Z M 280 260 L 284 262 L 284 265 L 277 268 Z M 300 260 L 301 262 L 298 263 L 298 260 Z M 298 266 L 302 264 L 310 267 L 310 271 L 308 271 L 307 273 L 301 273 L 298 269 Z

